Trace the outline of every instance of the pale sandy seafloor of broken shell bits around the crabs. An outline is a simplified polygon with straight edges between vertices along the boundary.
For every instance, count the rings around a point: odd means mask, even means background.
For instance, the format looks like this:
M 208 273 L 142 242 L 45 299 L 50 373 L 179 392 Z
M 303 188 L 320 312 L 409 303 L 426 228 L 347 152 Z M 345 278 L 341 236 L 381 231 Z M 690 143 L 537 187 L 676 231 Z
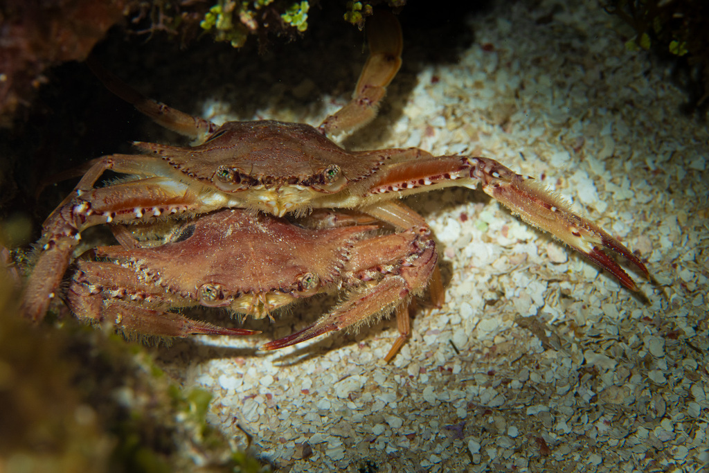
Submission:
M 595 1 L 505 2 L 456 23 L 464 32 L 449 50 L 445 28 L 430 30 L 430 45 L 405 35 L 381 115 L 345 144 L 483 155 L 543 176 L 635 250 L 657 284 L 629 267 L 644 295 L 635 296 L 481 191 L 435 191 L 407 203 L 435 232 L 447 301 L 420 304 L 390 364 L 393 321 L 257 351 L 312 323 L 328 304 L 316 301 L 273 324 L 245 321 L 259 337 L 162 347 L 161 366 L 211 391 L 211 422 L 238 447 L 242 430 L 252 435 L 251 451 L 279 471 L 700 470 L 709 462 L 706 123 L 680 112 L 687 96 L 669 65 L 627 52 L 632 30 Z M 232 85 L 201 109 L 215 121 L 317 125 L 349 99 L 361 46 L 356 32 L 333 40 L 296 83 L 279 82 L 276 62 L 237 56 Z M 157 80 L 169 90 L 207 72 L 191 73 Z

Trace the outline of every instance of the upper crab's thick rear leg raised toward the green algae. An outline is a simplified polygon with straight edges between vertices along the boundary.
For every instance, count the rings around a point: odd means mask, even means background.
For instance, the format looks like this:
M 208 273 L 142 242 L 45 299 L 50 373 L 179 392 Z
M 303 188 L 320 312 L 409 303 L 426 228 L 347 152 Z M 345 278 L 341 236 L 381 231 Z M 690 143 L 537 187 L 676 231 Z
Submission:
M 367 20 L 369 58 L 359 75 L 352 100 L 325 118 L 319 130 L 326 135 L 349 133 L 372 121 L 386 87 L 401 67 L 401 26 L 396 16 L 379 11 Z

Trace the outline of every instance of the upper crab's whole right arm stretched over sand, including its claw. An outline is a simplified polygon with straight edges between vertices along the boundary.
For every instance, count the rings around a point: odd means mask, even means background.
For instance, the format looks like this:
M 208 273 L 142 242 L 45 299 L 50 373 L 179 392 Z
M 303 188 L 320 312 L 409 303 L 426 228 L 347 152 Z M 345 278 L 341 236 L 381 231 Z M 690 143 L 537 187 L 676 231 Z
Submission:
M 384 199 L 386 194 L 392 192 L 406 196 L 451 186 L 475 189 L 481 184 L 486 194 L 500 201 L 527 223 L 551 233 L 596 265 L 608 270 L 627 289 L 638 290 L 632 278 L 603 250 L 625 258 L 649 277 L 647 267 L 623 243 L 588 219 L 573 213 L 566 202 L 544 189 L 532 177 L 516 174 L 486 157 L 433 157 L 420 150 L 400 150 L 401 155 L 397 157 L 393 151 L 386 150 L 384 153 L 392 160 L 398 159 L 401 162 L 389 167 L 369 188 L 374 201 L 377 196 Z M 415 160 L 412 153 L 416 155 Z M 402 211 L 398 211 L 397 215 L 396 211 L 391 210 L 391 204 L 386 202 L 364 207 L 363 211 L 401 228 L 409 226 L 413 218 Z M 401 219 L 399 223 L 398 218 Z

